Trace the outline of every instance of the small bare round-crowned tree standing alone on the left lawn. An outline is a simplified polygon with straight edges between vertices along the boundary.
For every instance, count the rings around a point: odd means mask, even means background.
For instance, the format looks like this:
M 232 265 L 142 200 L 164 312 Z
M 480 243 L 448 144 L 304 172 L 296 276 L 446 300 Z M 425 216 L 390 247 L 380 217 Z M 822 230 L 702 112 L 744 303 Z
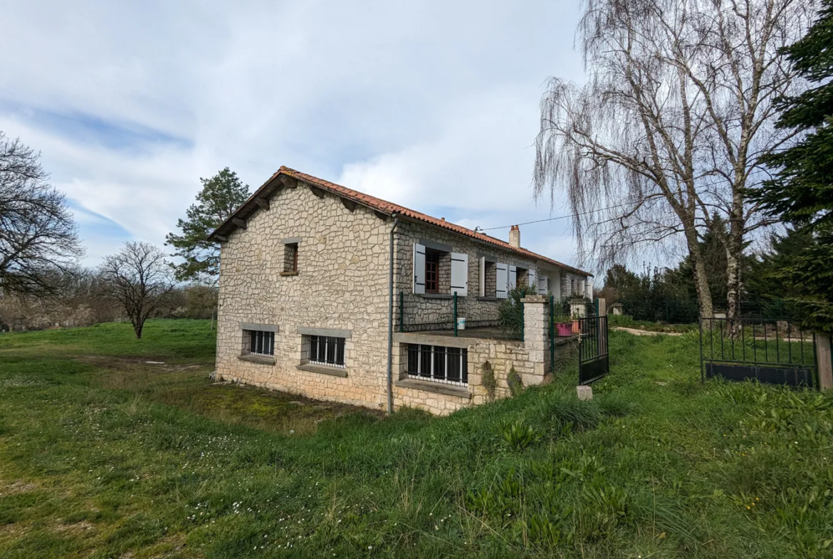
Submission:
M 152 312 L 174 284 L 165 252 L 148 242 L 125 242 L 121 252 L 107 257 L 99 267 L 107 293 L 124 310 L 136 337 Z

